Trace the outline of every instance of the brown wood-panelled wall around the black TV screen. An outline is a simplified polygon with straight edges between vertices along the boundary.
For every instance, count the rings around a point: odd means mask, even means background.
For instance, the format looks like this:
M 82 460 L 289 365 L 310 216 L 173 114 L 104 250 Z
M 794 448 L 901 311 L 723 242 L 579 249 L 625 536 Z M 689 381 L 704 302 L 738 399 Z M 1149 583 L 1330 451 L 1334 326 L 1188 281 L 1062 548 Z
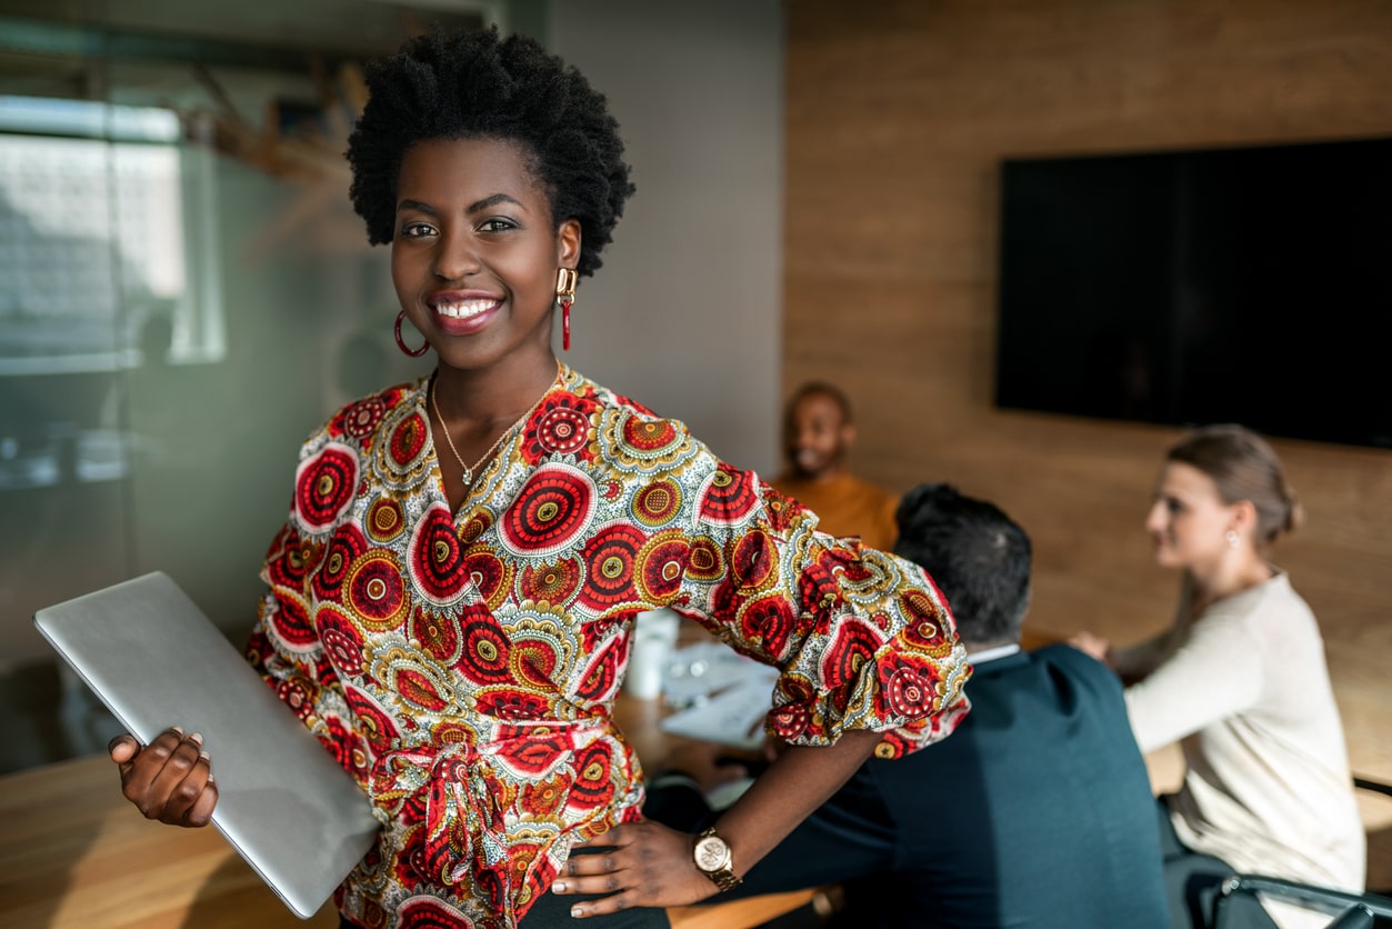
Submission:
M 1016 517 L 1034 628 L 1162 625 L 1178 579 L 1141 521 L 1179 430 L 992 408 L 999 160 L 1389 135 L 1392 4 L 789 0 L 786 67 L 785 389 L 849 391 L 862 474 Z M 1275 446 L 1308 510 L 1276 561 L 1354 767 L 1392 781 L 1392 453 Z

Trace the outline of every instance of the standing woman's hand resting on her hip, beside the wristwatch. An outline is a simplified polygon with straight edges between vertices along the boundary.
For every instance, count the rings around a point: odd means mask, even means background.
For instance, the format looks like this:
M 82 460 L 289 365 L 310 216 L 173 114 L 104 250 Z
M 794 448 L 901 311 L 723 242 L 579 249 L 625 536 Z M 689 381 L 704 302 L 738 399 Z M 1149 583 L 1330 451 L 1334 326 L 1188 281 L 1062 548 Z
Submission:
M 576 903 L 574 916 L 599 916 L 632 907 L 682 907 L 714 896 L 696 869 L 696 837 L 649 820 L 618 826 L 578 844 L 551 886 L 558 894 L 608 894 Z M 596 848 L 575 854 L 576 850 Z M 603 851 L 600 851 L 603 850 Z

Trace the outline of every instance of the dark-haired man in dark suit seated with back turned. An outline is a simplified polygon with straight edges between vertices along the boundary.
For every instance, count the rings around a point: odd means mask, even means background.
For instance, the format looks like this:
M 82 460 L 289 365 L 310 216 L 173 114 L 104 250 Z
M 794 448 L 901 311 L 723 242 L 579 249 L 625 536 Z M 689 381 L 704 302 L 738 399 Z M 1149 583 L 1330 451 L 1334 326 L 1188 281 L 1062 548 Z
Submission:
M 895 552 L 928 570 L 956 616 L 972 712 L 942 742 L 866 762 L 713 901 L 841 883 L 841 918 L 857 929 L 1168 929 L 1155 804 L 1121 685 L 1068 645 L 1019 649 L 1029 536 L 947 485 L 909 492 L 898 522 Z M 656 819 L 674 806 L 661 781 L 644 811 Z

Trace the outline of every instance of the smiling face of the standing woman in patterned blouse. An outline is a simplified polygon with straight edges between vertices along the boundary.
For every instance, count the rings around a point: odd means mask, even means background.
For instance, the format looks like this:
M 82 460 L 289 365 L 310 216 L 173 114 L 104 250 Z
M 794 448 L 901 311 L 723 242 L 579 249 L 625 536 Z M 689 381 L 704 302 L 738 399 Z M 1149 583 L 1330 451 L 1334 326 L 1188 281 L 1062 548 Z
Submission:
M 579 251 L 579 223 L 553 228 L 518 143 L 430 139 L 402 157 L 391 280 L 441 364 L 482 370 L 518 350 L 550 355 L 557 270 Z

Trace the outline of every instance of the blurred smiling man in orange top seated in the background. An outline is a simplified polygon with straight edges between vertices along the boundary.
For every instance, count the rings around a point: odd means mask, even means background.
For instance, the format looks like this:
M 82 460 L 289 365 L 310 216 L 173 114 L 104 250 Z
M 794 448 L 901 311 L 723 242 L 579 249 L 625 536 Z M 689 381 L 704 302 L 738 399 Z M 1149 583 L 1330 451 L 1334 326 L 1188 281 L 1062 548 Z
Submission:
M 784 408 L 786 471 L 771 483 L 816 513 L 823 532 L 856 535 L 863 545 L 888 552 L 898 499 L 851 474 L 846 458 L 855 440 L 845 393 L 821 380 L 805 383 Z

